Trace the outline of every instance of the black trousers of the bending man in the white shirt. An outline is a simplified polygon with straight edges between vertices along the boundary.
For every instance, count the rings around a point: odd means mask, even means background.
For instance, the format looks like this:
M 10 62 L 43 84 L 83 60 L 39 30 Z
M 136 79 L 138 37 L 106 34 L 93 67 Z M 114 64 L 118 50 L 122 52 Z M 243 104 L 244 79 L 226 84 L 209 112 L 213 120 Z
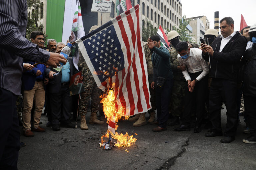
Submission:
M 191 81 L 197 78 L 202 71 L 197 73 L 189 73 Z M 185 108 L 183 112 L 183 125 L 190 125 L 192 113 L 196 117 L 196 124 L 201 124 L 205 113 L 205 100 L 207 98 L 208 76 L 205 76 L 195 84 L 194 91 L 191 93 L 186 87 L 185 89 Z

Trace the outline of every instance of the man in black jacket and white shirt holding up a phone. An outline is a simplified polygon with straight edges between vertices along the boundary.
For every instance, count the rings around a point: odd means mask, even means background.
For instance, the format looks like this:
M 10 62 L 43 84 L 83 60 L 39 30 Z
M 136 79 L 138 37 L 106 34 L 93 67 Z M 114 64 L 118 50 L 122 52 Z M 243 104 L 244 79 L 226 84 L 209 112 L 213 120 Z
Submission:
M 209 96 L 209 113 L 212 123 L 212 131 L 206 133 L 206 137 L 222 136 L 221 129 L 221 102 L 224 100 L 227 108 L 227 124 L 222 143 L 230 143 L 235 140 L 238 107 L 236 104 L 237 78 L 240 60 L 246 49 L 247 40 L 240 33 L 234 32 L 234 21 L 231 17 L 220 20 L 221 36 L 217 37 L 211 46 L 202 46 L 202 56 L 209 61 L 210 77 L 212 83 Z

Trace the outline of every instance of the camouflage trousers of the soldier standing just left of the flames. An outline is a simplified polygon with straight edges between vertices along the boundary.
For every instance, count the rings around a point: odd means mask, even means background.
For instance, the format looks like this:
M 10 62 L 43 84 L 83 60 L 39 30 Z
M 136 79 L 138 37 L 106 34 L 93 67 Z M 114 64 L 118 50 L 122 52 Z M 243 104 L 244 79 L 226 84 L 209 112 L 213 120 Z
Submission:
M 90 98 L 91 100 L 91 112 L 98 112 L 99 102 L 101 100 L 100 95 L 102 94 L 102 90 L 98 88 L 96 82 L 93 77 L 84 78 L 83 79 L 84 89 L 85 91 L 80 94 L 80 102 L 79 102 L 79 114 L 85 115 L 89 106 Z

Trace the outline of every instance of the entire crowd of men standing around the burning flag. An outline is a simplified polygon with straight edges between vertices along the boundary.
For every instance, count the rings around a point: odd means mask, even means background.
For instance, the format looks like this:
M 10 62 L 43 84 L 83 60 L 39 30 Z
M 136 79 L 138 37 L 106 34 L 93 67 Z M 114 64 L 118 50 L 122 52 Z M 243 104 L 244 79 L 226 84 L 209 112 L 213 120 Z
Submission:
M 100 104 L 103 92 L 81 52 L 77 70 L 71 57 L 66 59 L 56 53 L 65 47 L 64 43 L 48 39 L 44 48 L 45 37 L 39 31 L 30 34 L 31 42 L 25 39 L 26 11 L 26 3 L 15 0 L 1 7 L 5 15 L 0 20 L 0 169 L 17 169 L 20 148 L 17 111 L 22 114 L 26 137 L 45 132 L 40 127 L 44 106 L 48 117 L 46 126 L 54 131 L 61 127 L 75 128 L 71 113 L 73 119 L 80 115 L 80 128 L 87 130 L 88 109 L 90 124 L 104 124 L 105 120 Z M 97 28 L 93 26 L 90 32 Z M 167 130 L 167 125 L 177 125 L 173 127 L 175 131 L 190 131 L 194 127 L 194 133 L 200 133 L 206 124 L 209 128 L 206 137 L 222 136 L 220 111 L 224 102 L 227 123 L 220 142 L 235 140 L 239 116 L 244 115 L 244 133 L 250 136 L 243 142 L 256 143 L 256 25 L 245 27 L 241 33 L 234 32 L 233 19 L 225 17 L 220 21 L 220 33 L 207 30 L 204 35 L 207 43 L 201 43 L 200 47 L 180 41 L 176 31 L 167 34 L 169 49 L 161 46 L 157 35 L 143 42 L 152 103 L 148 122 L 157 126 L 154 132 Z M 64 66 L 57 71 L 60 62 Z M 80 99 L 69 91 L 71 76 L 78 71 L 82 76 L 76 77 L 76 83 L 79 79 L 84 85 Z M 241 106 L 242 96 L 244 106 Z M 22 109 L 17 109 L 16 103 Z M 145 114 L 137 114 L 129 121 L 134 121 L 135 127 L 145 125 Z

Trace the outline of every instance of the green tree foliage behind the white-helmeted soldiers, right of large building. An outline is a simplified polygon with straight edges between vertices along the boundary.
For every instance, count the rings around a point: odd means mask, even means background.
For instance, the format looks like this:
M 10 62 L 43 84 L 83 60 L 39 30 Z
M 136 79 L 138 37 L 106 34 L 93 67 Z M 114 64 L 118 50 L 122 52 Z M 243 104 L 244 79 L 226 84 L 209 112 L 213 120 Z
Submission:
M 176 30 L 180 34 L 180 41 L 189 41 L 193 42 L 192 36 L 187 33 L 186 26 L 189 24 L 190 20 L 186 19 L 184 15 L 182 19 L 179 20 L 179 27 L 173 27 L 173 30 Z

